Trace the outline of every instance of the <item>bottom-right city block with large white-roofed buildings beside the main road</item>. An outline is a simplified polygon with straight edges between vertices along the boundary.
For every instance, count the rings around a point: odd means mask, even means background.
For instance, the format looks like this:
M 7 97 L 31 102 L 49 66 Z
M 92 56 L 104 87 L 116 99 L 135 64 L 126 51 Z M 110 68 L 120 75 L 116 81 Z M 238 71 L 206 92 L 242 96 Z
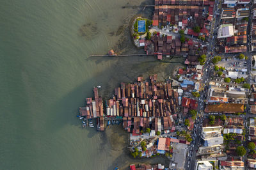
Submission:
M 216 118 L 214 125 L 205 118 L 195 169 L 244 169 L 244 161 L 236 153 L 243 141 L 243 118 Z

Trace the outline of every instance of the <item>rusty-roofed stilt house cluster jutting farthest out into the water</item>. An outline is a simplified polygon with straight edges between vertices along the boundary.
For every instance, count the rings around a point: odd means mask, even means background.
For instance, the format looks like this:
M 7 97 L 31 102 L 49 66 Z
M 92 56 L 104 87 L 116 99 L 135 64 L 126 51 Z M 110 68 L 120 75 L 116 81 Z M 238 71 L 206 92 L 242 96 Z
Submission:
M 115 88 L 113 98 L 102 104 L 98 88 L 93 88 L 95 99 L 86 98 L 85 107 L 79 108 L 79 114 L 86 120 L 97 118 L 100 130 L 104 130 L 104 118 L 122 120 L 127 132 L 140 135 L 141 130 L 150 128 L 154 132 L 175 130 L 175 120 L 179 112 L 179 93 L 172 82 L 157 82 L 157 75 L 143 81 L 138 77 L 134 84 L 121 83 Z

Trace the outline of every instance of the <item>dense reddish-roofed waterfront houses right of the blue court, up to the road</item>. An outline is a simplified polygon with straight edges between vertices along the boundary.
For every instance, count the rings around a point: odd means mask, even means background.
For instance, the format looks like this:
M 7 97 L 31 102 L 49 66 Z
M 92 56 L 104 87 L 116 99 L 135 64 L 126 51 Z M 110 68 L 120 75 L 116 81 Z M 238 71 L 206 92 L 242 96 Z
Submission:
M 214 1 L 156 0 L 154 8 L 150 29 L 152 37 L 140 40 L 147 54 L 157 55 L 158 59 L 163 56 L 189 56 L 187 61 L 191 63 L 206 54 L 207 45 L 202 40 L 210 36 Z M 194 27 L 199 27 L 199 31 L 193 31 Z M 182 41 L 180 30 L 184 31 Z

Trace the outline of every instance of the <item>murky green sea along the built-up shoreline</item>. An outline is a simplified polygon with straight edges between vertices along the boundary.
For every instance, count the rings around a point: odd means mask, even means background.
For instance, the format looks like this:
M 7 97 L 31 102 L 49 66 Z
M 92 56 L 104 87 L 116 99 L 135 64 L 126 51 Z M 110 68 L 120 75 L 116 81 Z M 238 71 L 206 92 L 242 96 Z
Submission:
M 122 129 L 83 129 L 76 115 L 93 86 L 109 96 L 120 81 L 166 77 L 182 61 L 88 58 L 113 47 L 134 53 L 127 26 L 141 9 L 122 6 L 141 3 L 148 2 L 1 1 L 0 169 L 113 169 L 132 161 L 125 146 L 113 145 L 125 143 Z

